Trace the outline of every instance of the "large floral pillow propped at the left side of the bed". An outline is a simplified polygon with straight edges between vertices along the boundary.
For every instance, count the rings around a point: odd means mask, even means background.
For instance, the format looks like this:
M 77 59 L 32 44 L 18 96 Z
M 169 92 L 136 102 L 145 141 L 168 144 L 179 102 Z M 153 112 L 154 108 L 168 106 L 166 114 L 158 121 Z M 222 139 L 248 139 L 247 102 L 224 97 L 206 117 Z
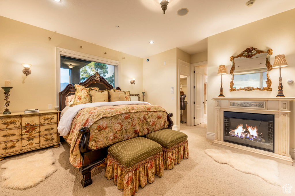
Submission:
M 85 88 L 84 86 L 81 86 L 78 84 L 75 84 L 75 88 L 76 88 L 75 98 L 73 103 L 70 105 L 70 107 L 83 104 L 83 103 L 91 103 L 91 96 L 89 94 L 89 89 L 93 89 L 96 91 L 99 90 L 99 88 L 96 88 L 96 87 Z

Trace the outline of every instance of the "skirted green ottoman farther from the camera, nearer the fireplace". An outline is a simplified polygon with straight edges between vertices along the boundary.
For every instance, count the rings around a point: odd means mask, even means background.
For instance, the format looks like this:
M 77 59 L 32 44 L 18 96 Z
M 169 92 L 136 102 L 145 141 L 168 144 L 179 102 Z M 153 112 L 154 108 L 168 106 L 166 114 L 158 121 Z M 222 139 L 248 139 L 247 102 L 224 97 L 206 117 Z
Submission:
M 163 129 L 155 131 L 146 138 L 159 143 L 163 147 L 164 170 L 170 170 L 182 159 L 189 158 L 187 135 L 180 131 Z

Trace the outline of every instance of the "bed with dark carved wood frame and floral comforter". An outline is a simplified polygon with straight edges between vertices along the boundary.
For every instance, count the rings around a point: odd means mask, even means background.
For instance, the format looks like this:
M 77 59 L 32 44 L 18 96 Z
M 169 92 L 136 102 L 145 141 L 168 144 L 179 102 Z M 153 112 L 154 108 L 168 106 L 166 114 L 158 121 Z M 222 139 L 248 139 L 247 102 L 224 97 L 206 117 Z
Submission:
M 105 78 L 99 76 L 99 73 L 96 73 L 94 76 L 90 76 L 86 81 L 79 83 L 79 85 L 86 88 L 98 87 L 99 90 L 102 91 L 121 91 L 119 87 L 114 89 L 113 86 L 105 80 Z M 73 97 L 75 92 L 76 89 L 74 85 L 69 84 L 63 91 L 59 93 L 60 111 L 66 107 L 66 103 L 68 104 L 70 101 L 69 97 Z M 76 105 L 74 107 L 70 107 L 71 110 L 74 110 L 74 108 L 75 110 L 79 110 L 79 107 L 82 109 L 78 111 L 73 120 L 67 119 L 68 115 L 66 114 L 69 113 L 68 111 L 66 111 L 64 113 L 65 116 L 61 118 L 61 121 L 65 119 L 71 121 L 71 131 L 68 133 L 68 135 L 64 134 L 63 137 L 71 145 L 70 162 L 75 167 L 78 167 L 81 174 L 83 175 L 83 179 L 81 180 L 83 187 L 92 184 L 91 169 L 104 163 L 107 156 L 107 149 L 111 145 L 134 137 L 145 137 L 148 133 L 153 131 L 164 128 L 171 129 L 173 126 L 173 121 L 171 120 L 173 114 L 168 114 L 163 108 L 162 110 L 160 106 L 148 105 L 149 103 L 146 102 L 136 102 L 134 105 L 134 101 L 125 101 L 126 103 L 122 104 L 119 102 L 116 103 L 117 105 L 113 105 L 115 102 L 106 102 L 107 106 L 103 105 L 102 107 L 98 107 L 101 106 L 100 103 L 86 103 Z M 121 122 L 124 121 L 125 124 L 129 119 L 130 123 L 132 122 L 132 119 L 133 121 L 137 121 L 137 128 L 131 129 L 129 126 L 131 132 L 134 130 L 134 133 L 128 133 L 129 129 L 123 129 L 123 126 L 116 126 L 118 123 L 114 116 L 116 116 L 117 119 L 120 118 Z M 142 116 L 146 117 L 143 118 Z M 106 120 L 108 124 L 106 126 L 101 125 L 102 123 L 105 123 L 102 121 Z M 91 123 L 89 123 L 89 121 L 91 121 Z M 148 126 L 146 124 L 148 124 Z M 115 137 L 114 131 L 112 132 L 111 130 L 115 130 L 116 133 L 120 133 L 118 134 L 120 137 Z M 93 138 L 95 138 L 95 140 Z M 101 142 L 102 138 L 111 138 L 111 140 L 104 140 Z

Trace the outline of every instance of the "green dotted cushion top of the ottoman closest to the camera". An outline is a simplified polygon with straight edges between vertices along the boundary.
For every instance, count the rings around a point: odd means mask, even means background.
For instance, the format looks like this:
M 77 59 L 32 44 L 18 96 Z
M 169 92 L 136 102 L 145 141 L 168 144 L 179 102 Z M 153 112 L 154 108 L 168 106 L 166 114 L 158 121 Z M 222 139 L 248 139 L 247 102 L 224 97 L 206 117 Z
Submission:
M 162 146 L 143 137 L 132 138 L 109 147 L 108 154 L 125 168 L 130 168 L 158 153 Z

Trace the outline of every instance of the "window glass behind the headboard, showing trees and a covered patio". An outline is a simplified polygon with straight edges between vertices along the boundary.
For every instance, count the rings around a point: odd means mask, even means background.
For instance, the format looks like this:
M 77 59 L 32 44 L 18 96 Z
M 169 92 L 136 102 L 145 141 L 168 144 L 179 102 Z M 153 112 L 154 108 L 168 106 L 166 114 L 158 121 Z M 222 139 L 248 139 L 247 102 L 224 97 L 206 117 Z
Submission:
M 78 84 L 96 72 L 106 81 L 115 86 L 116 66 L 96 61 L 88 61 L 79 58 L 60 55 L 60 91 L 68 84 Z

